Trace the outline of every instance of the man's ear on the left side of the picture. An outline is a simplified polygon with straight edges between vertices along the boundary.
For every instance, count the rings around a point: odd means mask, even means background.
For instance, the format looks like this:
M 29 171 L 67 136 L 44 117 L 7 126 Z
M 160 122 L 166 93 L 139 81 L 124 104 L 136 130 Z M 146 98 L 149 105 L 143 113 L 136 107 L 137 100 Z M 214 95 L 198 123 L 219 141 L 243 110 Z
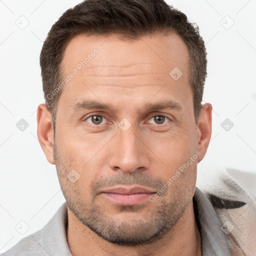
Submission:
M 45 104 L 37 107 L 37 137 L 49 163 L 55 164 L 53 157 L 53 123 L 51 113 Z

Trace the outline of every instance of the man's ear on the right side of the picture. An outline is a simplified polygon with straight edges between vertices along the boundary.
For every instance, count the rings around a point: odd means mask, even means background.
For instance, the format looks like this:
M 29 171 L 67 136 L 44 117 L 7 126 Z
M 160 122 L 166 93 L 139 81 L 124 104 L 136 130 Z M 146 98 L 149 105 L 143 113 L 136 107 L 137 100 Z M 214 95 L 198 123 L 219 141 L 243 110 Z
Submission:
M 201 152 L 200 156 L 197 158 L 198 159 L 197 162 L 200 162 L 203 159 L 210 142 L 211 113 L 212 113 L 211 104 L 210 103 L 203 104 L 201 112 L 198 116 L 198 124 L 197 124 L 197 150 Z

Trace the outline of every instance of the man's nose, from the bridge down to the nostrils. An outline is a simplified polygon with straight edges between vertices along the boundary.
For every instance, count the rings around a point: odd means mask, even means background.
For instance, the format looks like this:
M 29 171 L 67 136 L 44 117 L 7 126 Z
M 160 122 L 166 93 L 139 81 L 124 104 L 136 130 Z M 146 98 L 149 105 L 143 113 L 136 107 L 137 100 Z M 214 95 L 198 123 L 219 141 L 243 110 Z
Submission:
M 132 173 L 149 168 L 148 149 L 134 125 L 123 131 L 117 128 L 110 149 L 109 167 Z

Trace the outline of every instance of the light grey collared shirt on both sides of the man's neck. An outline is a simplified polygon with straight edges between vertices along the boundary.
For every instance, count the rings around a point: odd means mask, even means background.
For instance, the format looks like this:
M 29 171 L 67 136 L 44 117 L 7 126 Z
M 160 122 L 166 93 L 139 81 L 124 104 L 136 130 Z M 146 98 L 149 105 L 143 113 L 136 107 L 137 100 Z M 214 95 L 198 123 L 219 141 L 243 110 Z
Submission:
M 205 194 L 197 187 L 194 213 L 201 234 L 203 256 L 230 256 L 221 223 Z M 48 223 L 10 248 L 2 256 L 71 256 L 67 240 L 67 206 L 63 203 Z

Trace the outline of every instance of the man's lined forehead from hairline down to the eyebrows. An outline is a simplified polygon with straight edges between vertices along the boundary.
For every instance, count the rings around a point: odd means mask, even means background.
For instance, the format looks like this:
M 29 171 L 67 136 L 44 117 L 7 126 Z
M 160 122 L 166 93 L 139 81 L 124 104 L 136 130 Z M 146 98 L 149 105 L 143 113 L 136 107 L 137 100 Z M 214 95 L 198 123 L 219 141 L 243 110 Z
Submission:
M 63 53 L 61 73 L 66 83 L 60 99 L 75 104 L 84 96 L 100 95 L 98 99 L 105 102 L 119 94 L 120 102 L 124 98 L 129 102 L 134 96 L 143 102 L 154 94 L 160 98 L 170 93 L 185 101 L 188 93 L 191 96 L 188 68 L 188 49 L 175 33 L 136 40 L 121 40 L 116 35 L 77 35 Z M 182 75 L 173 79 L 173 72 Z

